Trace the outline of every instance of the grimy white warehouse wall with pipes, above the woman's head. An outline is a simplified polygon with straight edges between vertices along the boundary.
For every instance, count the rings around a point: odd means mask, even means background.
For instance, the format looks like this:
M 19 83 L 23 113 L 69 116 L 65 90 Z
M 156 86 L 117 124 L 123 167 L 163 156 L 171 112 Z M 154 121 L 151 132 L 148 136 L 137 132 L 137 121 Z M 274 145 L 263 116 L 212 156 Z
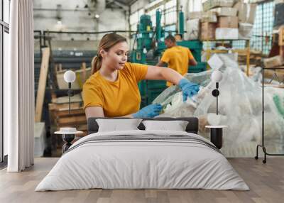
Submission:
M 58 5 L 61 7 L 58 8 Z M 85 5 L 88 8 L 84 8 Z M 128 30 L 124 9 L 104 9 L 104 0 L 34 0 L 34 29 L 40 31 L 110 31 Z M 96 18 L 96 15 L 99 18 Z M 61 23 L 60 23 L 61 22 Z M 101 35 L 61 35 L 59 40 L 97 40 Z

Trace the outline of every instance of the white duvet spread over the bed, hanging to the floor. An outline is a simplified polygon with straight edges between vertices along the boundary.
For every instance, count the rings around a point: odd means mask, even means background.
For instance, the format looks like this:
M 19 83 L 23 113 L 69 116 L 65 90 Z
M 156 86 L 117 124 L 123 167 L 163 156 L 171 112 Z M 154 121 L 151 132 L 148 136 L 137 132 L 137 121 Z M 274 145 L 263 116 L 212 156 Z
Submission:
M 194 133 L 180 131 L 93 133 L 74 143 L 35 191 L 91 188 L 249 190 L 222 153 L 200 143 L 133 139 L 84 143 L 97 136 L 149 134 L 190 136 L 210 143 Z

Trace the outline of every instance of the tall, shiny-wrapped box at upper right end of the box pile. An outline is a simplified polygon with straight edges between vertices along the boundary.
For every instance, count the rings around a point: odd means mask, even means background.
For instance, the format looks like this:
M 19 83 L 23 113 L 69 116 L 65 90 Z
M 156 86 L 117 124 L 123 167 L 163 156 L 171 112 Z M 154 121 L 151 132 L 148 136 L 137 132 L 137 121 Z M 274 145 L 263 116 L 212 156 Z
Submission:
M 238 10 L 239 22 L 253 24 L 256 16 L 256 6 L 257 4 L 236 3 L 234 8 Z

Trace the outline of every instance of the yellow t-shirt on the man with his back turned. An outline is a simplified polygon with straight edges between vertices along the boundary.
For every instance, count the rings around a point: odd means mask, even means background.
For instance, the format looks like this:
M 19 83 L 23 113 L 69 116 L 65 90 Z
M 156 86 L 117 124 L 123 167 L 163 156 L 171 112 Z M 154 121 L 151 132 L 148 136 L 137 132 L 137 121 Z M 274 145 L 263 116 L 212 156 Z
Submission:
M 192 53 L 188 48 L 182 46 L 174 46 L 165 50 L 162 58 L 163 62 L 168 63 L 168 67 L 180 73 L 180 75 L 185 75 L 188 70 L 188 64 L 191 59 L 194 59 Z M 167 86 L 172 85 L 167 82 Z

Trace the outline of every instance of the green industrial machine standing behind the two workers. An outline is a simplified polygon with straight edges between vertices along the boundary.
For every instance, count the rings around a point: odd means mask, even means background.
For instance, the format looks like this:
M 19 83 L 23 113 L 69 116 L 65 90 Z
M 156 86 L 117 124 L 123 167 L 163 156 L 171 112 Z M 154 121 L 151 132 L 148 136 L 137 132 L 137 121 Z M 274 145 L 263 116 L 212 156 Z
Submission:
M 156 26 L 153 28 L 151 16 L 142 15 L 137 26 L 134 43 L 136 49 L 131 50 L 131 62 L 141 64 L 155 65 L 160 60 L 160 56 L 165 51 L 165 29 L 160 25 L 162 13 L 160 9 L 155 12 Z M 184 13 L 179 11 L 179 31 L 180 35 L 184 35 Z M 202 42 L 200 40 L 182 40 L 177 42 L 178 45 L 189 48 L 198 64 L 189 68 L 189 72 L 202 72 L 206 70 L 206 63 L 201 62 Z M 143 80 L 138 84 L 141 92 L 141 107 L 151 104 L 151 102 L 164 89 L 166 89 L 165 81 L 162 80 Z

